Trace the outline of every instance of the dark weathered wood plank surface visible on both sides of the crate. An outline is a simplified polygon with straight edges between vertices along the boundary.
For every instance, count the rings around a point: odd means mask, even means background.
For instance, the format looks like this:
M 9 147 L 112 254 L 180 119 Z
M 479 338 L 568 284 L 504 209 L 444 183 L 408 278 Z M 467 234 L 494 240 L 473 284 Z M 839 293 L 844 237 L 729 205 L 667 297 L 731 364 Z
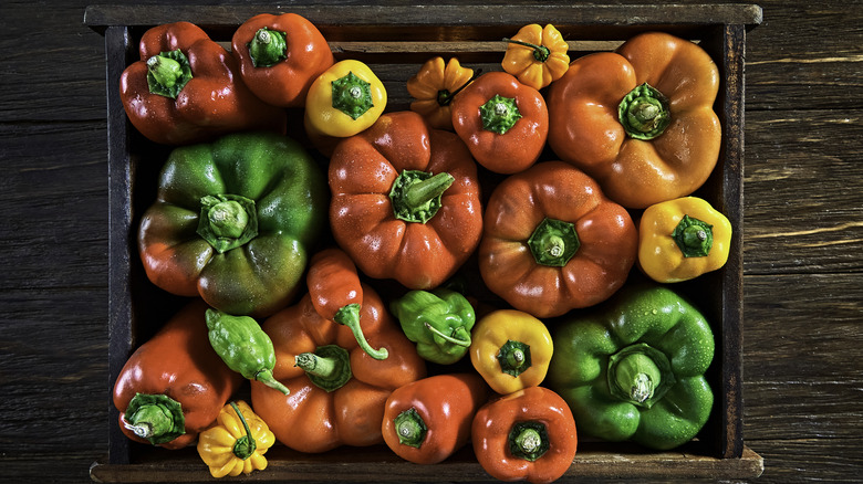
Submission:
M 106 452 L 105 60 L 83 24 L 89 3 L 0 4 L 3 482 L 89 482 Z M 765 459 L 760 482 L 856 482 L 863 4 L 758 3 L 746 57 L 744 435 Z

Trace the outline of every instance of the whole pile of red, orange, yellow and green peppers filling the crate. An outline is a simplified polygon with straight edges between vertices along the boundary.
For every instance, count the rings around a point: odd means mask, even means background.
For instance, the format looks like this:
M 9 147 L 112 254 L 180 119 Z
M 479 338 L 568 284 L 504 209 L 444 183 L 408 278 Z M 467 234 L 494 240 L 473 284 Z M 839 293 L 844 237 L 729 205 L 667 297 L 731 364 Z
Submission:
M 698 193 L 722 136 L 701 48 L 647 32 L 571 59 L 529 24 L 499 70 L 429 59 L 397 108 L 295 13 L 230 44 L 158 25 L 121 77 L 169 149 L 139 262 L 183 302 L 115 381 L 129 439 L 197 443 L 214 477 L 279 444 L 423 465 L 471 446 L 495 478 L 550 483 L 579 434 L 699 436 L 719 322 L 687 287 L 732 236 Z

